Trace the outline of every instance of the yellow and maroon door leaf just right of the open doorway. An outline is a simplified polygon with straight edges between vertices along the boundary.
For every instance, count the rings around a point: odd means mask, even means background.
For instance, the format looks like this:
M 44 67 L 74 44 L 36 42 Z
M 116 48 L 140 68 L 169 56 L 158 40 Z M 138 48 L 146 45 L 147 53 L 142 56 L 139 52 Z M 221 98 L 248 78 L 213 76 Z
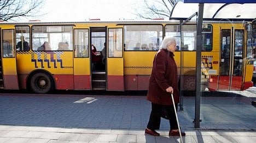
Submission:
M 107 90 L 124 91 L 123 27 L 107 30 Z

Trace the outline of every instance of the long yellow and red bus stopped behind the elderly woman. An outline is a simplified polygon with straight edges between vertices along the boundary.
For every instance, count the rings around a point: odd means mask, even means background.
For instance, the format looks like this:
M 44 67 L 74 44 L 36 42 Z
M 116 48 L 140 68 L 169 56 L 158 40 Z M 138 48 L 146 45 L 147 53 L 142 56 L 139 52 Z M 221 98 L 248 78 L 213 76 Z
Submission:
M 251 23 L 204 22 L 205 89 L 253 86 Z M 0 23 L 1 89 L 147 90 L 164 36 L 177 39 L 175 60 L 184 91 L 195 90 L 196 24 L 179 21 Z M 93 45 L 93 46 L 92 46 Z

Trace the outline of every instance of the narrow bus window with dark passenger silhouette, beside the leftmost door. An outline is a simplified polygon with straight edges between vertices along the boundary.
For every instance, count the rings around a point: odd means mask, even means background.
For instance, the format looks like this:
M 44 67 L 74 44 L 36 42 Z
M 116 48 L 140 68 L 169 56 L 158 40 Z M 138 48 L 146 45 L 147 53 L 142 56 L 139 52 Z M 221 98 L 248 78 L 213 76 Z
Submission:
M 16 50 L 28 51 L 30 50 L 30 27 L 16 26 Z

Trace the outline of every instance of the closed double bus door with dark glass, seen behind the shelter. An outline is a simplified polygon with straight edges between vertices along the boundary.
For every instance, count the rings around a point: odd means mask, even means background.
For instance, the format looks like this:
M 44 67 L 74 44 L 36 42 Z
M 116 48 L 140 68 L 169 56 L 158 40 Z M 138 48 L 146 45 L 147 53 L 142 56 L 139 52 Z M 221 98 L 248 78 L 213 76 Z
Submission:
M 241 90 L 245 43 L 243 27 L 220 28 L 218 90 Z

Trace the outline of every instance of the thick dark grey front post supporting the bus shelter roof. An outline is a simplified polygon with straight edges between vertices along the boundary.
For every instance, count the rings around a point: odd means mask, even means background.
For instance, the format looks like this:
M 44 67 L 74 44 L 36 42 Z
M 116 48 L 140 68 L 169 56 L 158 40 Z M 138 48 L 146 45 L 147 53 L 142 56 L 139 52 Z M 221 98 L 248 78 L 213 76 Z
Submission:
M 201 48 L 202 48 L 203 3 L 199 3 L 196 27 L 196 97 L 195 97 L 195 128 L 200 128 L 201 102 Z

